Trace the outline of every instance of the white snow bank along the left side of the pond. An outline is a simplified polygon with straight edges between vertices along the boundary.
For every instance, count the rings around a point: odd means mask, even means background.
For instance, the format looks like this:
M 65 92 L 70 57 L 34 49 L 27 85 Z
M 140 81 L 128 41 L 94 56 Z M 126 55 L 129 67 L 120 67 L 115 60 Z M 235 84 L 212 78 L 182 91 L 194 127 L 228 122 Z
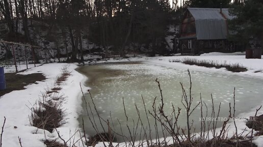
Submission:
M 36 127 L 32 127 L 29 121 L 31 107 L 40 98 L 41 91 L 45 88 L 54 86 L 56 77 L 60 74 L 60 69 L 67 65 L 65 63 L 44 64 L 42 66 L 33 67 L 19 74 L 27 75 L 30 73 L 43 73 L 47 78 L 43 82 L 26 86 L 24 90 L 12 91 L 0 98 L 0 124 L 4 123 L 6 117 L 6 125 L 3 133 L 3 147 L 5 146 L 20 146 L 18 136 L 21 138 L 23 146 L 45 146 L 42 140 L 58 137 L 56 131 L 49 133 Z M 78 130 L 78 121 L 76 117 L 81 111 L 81 89 L 80 82 L 83 84 L 87 78 L 74 69 L 77 68 L 74 64 L 69 64 L 72 76 L 61 85 L 61 93 L 66 97 L 66 103 L 63 107 L 66 109 L 65 118 L 67 123 L 58 128 L 60 135 L 63 135 L 65 140 L 68 140 L 70 133 L 73 134 Z M 84 86 L 83 86 L 84 87 Z M 84 89 L 86 90 L 86 89 Z M 15 127 L 16 126 L 16 127 Z M 70 132 L 71 131 L 71 132 Z M 79 137 L 79 133 L 76 134 Z

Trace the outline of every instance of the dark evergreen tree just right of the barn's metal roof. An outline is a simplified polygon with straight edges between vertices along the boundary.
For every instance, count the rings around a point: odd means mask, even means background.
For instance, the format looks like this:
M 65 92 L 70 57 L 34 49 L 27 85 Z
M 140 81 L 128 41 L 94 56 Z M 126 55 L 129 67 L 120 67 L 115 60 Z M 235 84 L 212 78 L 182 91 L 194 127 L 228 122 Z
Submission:
M 229 21 L 229 39 L 248 43 L 251 38 L 258 38 L 263 49 L 263 2 L 248 0 L 244 5 L 234 5 L 230 13 L 236 17 Z

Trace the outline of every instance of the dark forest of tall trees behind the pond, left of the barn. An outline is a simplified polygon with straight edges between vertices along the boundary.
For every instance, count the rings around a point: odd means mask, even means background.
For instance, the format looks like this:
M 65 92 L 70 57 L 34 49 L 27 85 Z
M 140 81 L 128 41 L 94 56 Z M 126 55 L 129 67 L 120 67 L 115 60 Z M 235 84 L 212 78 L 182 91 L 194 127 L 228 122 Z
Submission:
M 127 46 L 133 46 L 133 51 L 142 47 L 150 49 L 152 55 L 169 54 L 176 52 L 176 47 L 166 48 L 165 37 L 175 33 L 168 31 L 169 25 L 178 26 L 187 7 L 238 10 L 249 1 L 3 0 L 0 19 L 4 29 L 0 33 L 5 41 L 70 54 L 72 61 L 79 54 L 83 60 L 83 51 L 90 45 L 96 45 L 98 52 L 103 51 L 106 57 L 112 52 L 123 56 Z M 84 47 L 83 42 L 88 45 Z

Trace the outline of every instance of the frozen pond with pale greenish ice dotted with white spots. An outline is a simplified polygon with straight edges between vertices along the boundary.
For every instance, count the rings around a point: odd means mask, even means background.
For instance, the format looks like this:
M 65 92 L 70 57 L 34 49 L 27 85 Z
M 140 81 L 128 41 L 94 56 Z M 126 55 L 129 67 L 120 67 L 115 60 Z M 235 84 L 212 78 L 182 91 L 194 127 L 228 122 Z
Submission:
M 138 113 L 135 108 L 137 105 L 143 125 L 148 126 L 146 119 L 142 97 L 145 101 L 147 112 L 152 112 L 152 102 L 154 97 L 157 97 L 157 105 L 160 102 L 160 92 L 155 82 L 158 78 L 163 90 L 164 109 L 167 114 L 172 112 L 172 103 L 175 108 L 181 107 L 182 111 L 179 116 L 178 125 L 181 128 L 186 126 L 186 111 L 181 104 L 182 90 L 179 82 L 182 82 L 188 91 L 189 76 L 187 70 L 167 68 L 152 64 L 130 62 L 130 63 L 114 63 L 103 65 L 83 66 L 78 69 L 79 72 L 85 74 L 89 80 L 86 85 L 91 87 L 91 94 L 94 103 L 97 107 L 98 114 L 104 119 L 109 120 L 112 128 L 119 134 L 129 136 L 129 131 L 126 127 L 130 127 L 133 133 L 133 126 L 137 124 Z M 221 103 L 220 117 L 229 116 L 229 102 L 233 103 L 233 89 L 235 87 L 236 99 L 236 115 L 248 112 L 251 108 L 259 105 L 262 101 L 263 94 L 263 80 L 248 78 L 243 76 L 236 76 L 230 73 L 216 73 L 191 70 L 192 76 L 192 96 L 194 97 L 193 105 L 200 101 L 200 93 L 202 101 L 211 109 L 213 94 L 216 109 Z M 92 101 L 89 95 L 86 95 L 86 100 L 92 106 L 94 119 L 100 132 L 103 129 L 100 126 L 98 116 L 93 109 Z M 124 99 L 125 110 L 128 117 L 124 114 L 122 103 Z M 83 114 L 80 115 L 79 121 L 82 124 L 82 118 L 85 122 L 85 130 L 89 135 L 96 134 L 90 120 L 87 116 L 85 103 L 83 103 Z M 88 108 L 90 113 L 90 109 Z M 208 113 L 211 116 L 211 112 Z M 91 116 L 91 114 L 90 114 Z M 208 117 L 209 117 L 208 116 Z M 154 130 L 154 118 L 148 114 L 149 123 Z M 200 129 L 200 107 L 197 107 L 193 112 L 191 120 L 194 120 L 194 127 L 196 131 Z M 93 120 L 93 118 L 91 117 Z M 134 122 L 133 122 L 134 119 Z M 106 132 L 108 127 L 102 121 Z M 121 127 L 120 127 L 121 125 Z M 219 122 L 218 127 L 221 127 Z M 148 129 L 148 127 L 147 127 Z M 137 139 L 140 139 L 141 123 L 138 123 Z M 159 128 L 159 137 L 163 136 L 163 131 Z M 142 134 L 143 135 L 143 134 Z M 152 138 L 156 138 L 155 130 L 151 132 Z M 117 141 L 123 141 L 123 137 L 116 135 Z M 141 136 L 142 138 L 142 136 Z

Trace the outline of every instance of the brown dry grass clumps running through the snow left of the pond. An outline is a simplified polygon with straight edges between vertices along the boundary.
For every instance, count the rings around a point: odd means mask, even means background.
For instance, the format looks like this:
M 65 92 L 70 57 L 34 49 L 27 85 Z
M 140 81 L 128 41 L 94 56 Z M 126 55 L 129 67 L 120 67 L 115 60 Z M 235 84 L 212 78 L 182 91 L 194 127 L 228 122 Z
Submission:
M 70 76 L 68 66 L 63 66 L 61 76 L 58 76 L 56 84 L 66 81 Z M 64 94 L 60 94 L 61 87 L 55 86 L 51 90 L 42 93 L 42 99 L 36 102 L 31 112 L 31 125 L 52 132 L 54 128 L 64 124 L 63 109 L 61 105 L 65 100 Z M 52 143 L 52 141 L 51 141 Z

